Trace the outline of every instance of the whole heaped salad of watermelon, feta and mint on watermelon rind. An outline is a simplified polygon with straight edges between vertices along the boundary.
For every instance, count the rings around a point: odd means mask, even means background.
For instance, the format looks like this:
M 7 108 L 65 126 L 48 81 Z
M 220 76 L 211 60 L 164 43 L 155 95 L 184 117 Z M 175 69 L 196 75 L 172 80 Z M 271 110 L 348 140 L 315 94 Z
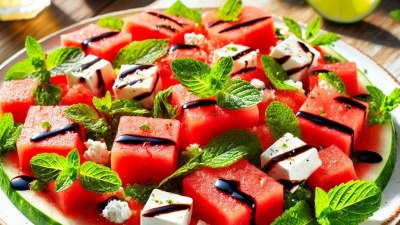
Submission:
M 339 39 L 228 0 L 106 17 L 0 86 L 0 186 L 34 224 L 359 224 L 397 143 Z

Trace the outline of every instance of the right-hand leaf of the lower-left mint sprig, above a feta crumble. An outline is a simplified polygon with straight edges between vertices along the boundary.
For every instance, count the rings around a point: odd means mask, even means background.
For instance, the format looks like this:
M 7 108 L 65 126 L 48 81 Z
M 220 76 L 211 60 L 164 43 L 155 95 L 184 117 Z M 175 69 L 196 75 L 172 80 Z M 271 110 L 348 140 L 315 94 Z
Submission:
M 116 172 L 94 162 L 82 164 L 79 174 L 82 187 L 91 192 L 111 193 L 122 186 Z

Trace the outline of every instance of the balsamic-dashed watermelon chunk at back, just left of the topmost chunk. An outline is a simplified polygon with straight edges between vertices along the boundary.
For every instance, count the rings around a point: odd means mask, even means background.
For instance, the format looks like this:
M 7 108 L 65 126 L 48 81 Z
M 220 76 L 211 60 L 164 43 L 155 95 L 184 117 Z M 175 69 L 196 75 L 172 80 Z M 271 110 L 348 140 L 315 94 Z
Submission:
M 195 22 L 183 17 L 165 15 L 160 11 L 145 11 L 125 19 L 124 32 L 133 41 L 169 39 L 171 44 L 184 43 L 184 34 L 195 31 Z

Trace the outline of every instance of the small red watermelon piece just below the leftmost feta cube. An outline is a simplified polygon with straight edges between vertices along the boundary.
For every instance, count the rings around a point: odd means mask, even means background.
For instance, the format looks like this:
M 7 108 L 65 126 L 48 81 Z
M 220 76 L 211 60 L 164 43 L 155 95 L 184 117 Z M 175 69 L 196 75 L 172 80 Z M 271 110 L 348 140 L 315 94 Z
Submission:
M 84 84 L 76 84 L 61 99 L 60 105 L 84 103 L 93 106 L 93 98 L 93 93 Z

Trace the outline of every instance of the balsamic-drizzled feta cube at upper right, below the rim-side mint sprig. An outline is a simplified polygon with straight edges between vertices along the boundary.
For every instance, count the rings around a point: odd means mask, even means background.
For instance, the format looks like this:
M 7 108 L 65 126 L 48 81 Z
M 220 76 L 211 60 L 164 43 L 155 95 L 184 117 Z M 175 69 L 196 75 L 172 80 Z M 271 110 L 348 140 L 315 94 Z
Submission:
M 316 66 L 321 54 L 294 35 L 272 48 L 270 55 L 280 63 L 290 79 L 300 81 Z

